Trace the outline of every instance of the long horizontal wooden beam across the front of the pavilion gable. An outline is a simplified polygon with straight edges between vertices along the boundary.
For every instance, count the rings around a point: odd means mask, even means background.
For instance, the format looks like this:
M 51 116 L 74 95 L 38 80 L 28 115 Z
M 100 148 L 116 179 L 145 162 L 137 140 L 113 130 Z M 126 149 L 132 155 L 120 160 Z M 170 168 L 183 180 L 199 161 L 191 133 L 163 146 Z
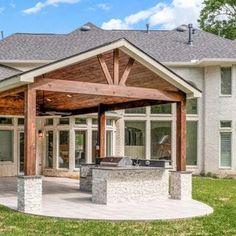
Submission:
M 51 92 L 115 96 L 132 99 L 151 99 L 169 102 L 181 101 L 183 98 L 182 93 L 172 91 L 141 87 L 126 87 L 120 85 L 106 85 L 71 80 L 42 79 L 31 86 L 36 90 Z

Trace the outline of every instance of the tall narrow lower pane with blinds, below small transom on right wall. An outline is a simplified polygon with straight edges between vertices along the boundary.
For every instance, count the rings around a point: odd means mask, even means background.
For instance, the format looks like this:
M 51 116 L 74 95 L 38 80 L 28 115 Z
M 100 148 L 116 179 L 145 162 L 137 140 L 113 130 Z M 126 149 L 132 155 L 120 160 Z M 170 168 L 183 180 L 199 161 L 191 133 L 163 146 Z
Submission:
M 220 133 L 220 165 L 222 167 L 231 166 L 231 133 Z

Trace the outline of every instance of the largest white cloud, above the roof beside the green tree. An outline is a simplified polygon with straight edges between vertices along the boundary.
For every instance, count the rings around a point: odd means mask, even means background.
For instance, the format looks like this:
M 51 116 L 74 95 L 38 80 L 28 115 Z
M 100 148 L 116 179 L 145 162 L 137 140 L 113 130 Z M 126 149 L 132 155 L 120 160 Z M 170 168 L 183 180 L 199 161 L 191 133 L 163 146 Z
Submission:
M 129 29 L 144 21 L 151 26 L 172 29 L 181 24 L 197 25 L 203 0 L 172 0 L 170 4 L 163 2 L 154 7 L 131 14 L 124 19 L 111 19 L 102 24 L 103 29 Z

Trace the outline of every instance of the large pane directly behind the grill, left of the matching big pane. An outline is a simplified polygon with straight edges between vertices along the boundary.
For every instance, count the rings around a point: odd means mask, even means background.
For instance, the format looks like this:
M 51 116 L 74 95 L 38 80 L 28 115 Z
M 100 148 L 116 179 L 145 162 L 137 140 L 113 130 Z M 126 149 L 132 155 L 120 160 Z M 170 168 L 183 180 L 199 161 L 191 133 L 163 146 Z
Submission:
M 125 122 L 125 155 L 145 159 L 145 122 Z

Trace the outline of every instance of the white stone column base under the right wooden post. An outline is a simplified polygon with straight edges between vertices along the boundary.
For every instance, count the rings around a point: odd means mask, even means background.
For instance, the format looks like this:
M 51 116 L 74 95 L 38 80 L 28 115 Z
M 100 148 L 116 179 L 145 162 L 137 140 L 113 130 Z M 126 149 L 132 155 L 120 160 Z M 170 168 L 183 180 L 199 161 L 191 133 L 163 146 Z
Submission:
M 170 171 L 170 196 L 172 199 L 192 199 L 192 172 Z

